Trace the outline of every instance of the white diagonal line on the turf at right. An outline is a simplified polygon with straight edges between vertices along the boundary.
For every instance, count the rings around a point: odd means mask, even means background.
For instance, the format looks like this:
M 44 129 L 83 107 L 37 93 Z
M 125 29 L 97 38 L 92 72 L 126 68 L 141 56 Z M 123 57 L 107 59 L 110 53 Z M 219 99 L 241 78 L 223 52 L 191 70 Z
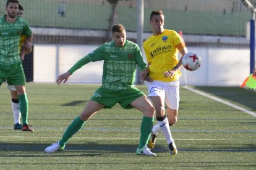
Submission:
M 187 90 L 189 90 L 189 91 L 195 92 L 195 93 L 200 94 L 200 95 L 203 95 L 203 96 L 205 96 L 205 97 L 208 97 L 208 98 L 210 98 L 210 99 L 216 100 L 217 102 L 221 102 L 221 103 L 224 103 L 225 105 L 229 105 L 230 107 L 236 108 L 237 110 L 244 111 L 245 113 L 248 113 L 249 115 L 252 115 L 252 116 L 255 116 L 255 117 L 256 117 L 256 113 L 254 113 L 254 111 L 247 110 L 247 109 L 242 108 L 242 107 L 239 107 L 239 106 L 237 106 L 237 105 L 235 105 L 235 104 L 233 104 L 233 103 L 226 102 L 226 101 L 223 100 L 223 99 L 220 99 L 220 98 L 218 98 L 218 97 L 214 97 L 214 96 L 212 96 L 212 95 L 205 94 L 205 93 L 203 93 L 203 92 L 201 92 L 201 91 L 197 91 L 197 90 L 192 89 L 192 88 L 190 88 L 190 87 L 184 87 L 184 88 L 187 89 Z

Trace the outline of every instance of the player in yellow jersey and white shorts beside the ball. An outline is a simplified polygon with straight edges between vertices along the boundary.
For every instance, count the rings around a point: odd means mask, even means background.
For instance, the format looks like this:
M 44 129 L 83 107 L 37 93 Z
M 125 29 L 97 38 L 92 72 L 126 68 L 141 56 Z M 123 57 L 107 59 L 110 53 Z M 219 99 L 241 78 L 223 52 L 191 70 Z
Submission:
M 177 148 L 169 125 L 176 123 L 179 108 L 179 68 L 182 67 L 182 59 L 178 60 L 178 53 L 180 52 L 183 57 L 187 53 L 187 48 L 176 31 L 164 29 L 163 11 L 151 12 L 150 25 L 153 34 L 143 43 L 148 69 L 143 71 L 142 78 L 147 81 L 148 97 L 155 105 L 158 124 L 152 128 L 148 145 L 153 148 L 156 135 L 162 131 L 171 155 L 176 155 Z M 167 105 L 168 116 L 165 115 L 164 102 Z

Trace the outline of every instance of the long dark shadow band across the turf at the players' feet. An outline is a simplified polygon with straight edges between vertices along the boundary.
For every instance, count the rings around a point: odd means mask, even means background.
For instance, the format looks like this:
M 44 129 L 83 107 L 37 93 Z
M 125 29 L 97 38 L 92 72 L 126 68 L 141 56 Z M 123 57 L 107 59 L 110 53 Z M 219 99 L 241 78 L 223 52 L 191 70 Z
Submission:
M 19 144 L 0 142 L 0 156 L 2 156 L 1 152 L 44 153 L 45 148 L 49 145 L 51 144 Z M 178 150 L 179 152 L 256 152 L 255 144 L 213 144 L 207 148 L 204 146 L 200 147 L 201 145 L 202 144 L 199 142 L 197 145 L 194 145 L 194 147 L 191 145 L 189 148 L 186 148 L 187 146 L 184 148 L 178 147 Z M 64 152 L 87 152 L 89 154 L 88 156 L 93 156 L 106 153 L 135 153 L 137 147 L 138 145 L 135 144 L 99 144 L 97 142 L 85 142 L 85 144 L 67 144 Z M 156 147 L 151 150 L 155 153 L 169 152 L 167 145 L 156 145 Z

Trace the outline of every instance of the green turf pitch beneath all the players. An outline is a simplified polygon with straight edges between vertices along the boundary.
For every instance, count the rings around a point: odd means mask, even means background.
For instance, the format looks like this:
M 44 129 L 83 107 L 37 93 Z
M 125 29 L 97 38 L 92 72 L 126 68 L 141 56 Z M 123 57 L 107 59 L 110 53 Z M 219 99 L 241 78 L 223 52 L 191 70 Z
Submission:
M 100 86 L 100 85 L 98 85 Z M 119 105 L 93 116 L 61 153 L 45 147 L 61 138 L 97 85 L 28 84 L 28 122 L 35 132 L 14 131 L 11 97 L 0 90 L 0 169 L 255 169 L 256 118 L 181 87 L 179 119 L 171 131 L 179 150 L 171 157 L 162 134 L 153 152 L 137 156 L 140 111 Z M 138 86 L 146 91 L 145 86 Z M 235 87 L 195 87 L 248 110 L 256 93 Z

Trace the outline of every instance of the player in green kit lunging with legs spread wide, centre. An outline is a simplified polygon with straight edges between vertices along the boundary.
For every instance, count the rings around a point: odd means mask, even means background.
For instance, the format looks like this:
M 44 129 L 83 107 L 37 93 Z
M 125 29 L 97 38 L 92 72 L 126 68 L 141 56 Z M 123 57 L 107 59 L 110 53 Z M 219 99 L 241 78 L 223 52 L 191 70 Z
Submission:
M 134 85 L 136 65 L 141 70 L 147 68 L 139 46 L 126 40 L 126 30 L 123 25 L 116 24 L 112 28 L 113 41 L 103 44 L 80 59 L 66 73 L 59 76 L 57 83 L 66 83 L 74 71 L 89 62 L 104 60 L 102 86 L 96 90 L 88 101 L 80 116 L 72 121 L 64 132 L 62 139 L 45 148 L 46 153 L 62 151 L 68 140 L 77 132 L 88 119 L 103 108 L 112 108 L 119 103 L 122 108 L 136 108 L 143 113 L 140 126 L 140 142 L 136 150 L 137 155 L 155 156 L 147 148 L 155 108 L 143 92 Z

